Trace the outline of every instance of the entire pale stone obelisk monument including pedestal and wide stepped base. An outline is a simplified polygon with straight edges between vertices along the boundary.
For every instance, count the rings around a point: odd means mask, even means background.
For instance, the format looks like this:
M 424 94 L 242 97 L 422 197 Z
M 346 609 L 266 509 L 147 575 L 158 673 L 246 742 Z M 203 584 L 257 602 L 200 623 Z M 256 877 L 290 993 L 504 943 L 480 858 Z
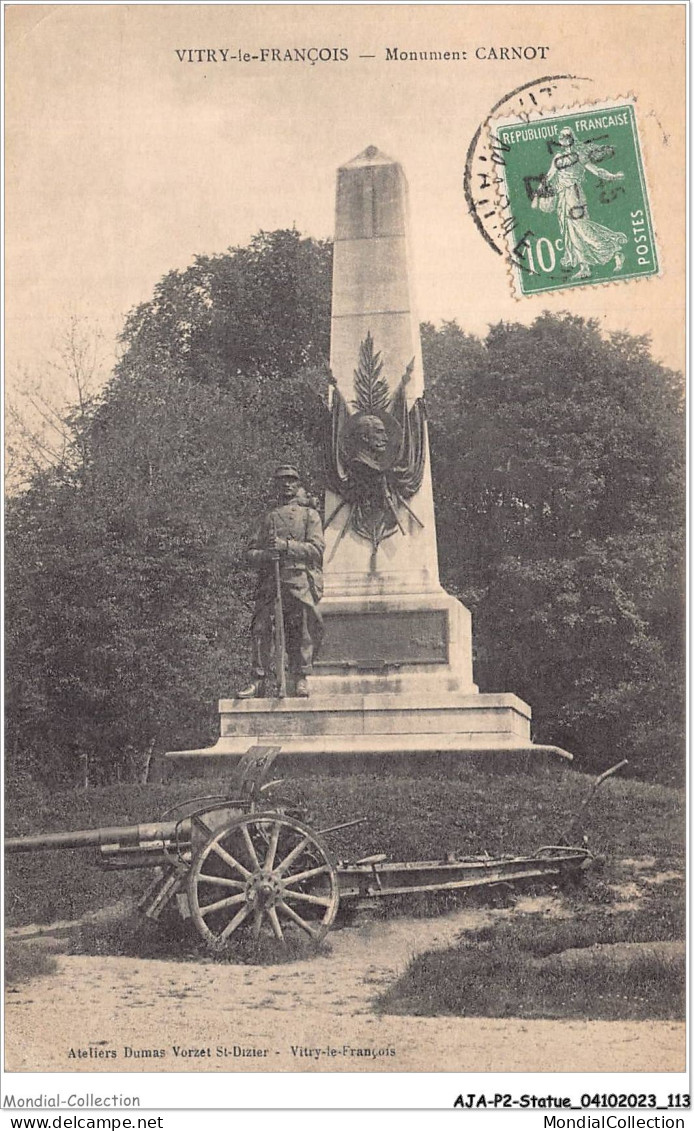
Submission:
M 222 699 L 217 744 L 167 754 L 174 765 L 198 772 L 263 743 L 379 769 L 413 757 L 571 758 L 532 744 L 530 708 L 514 694 L 479 693 L 470 614 L 440 585 L 410 278 L 405 174 L 370 146 L 338 170 L 326 633 L 310 696 Z

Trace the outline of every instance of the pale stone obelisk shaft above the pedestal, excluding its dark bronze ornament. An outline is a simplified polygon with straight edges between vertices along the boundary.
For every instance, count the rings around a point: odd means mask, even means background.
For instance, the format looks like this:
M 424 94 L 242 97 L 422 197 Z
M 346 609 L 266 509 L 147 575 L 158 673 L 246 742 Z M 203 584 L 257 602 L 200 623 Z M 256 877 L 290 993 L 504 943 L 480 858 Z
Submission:
M 408 365 L 410 404 L 424 394 L 419 326 L 409 270 L 407 182 L 397 162 L 371 146 L 338 170 L 332 267 L 330 366 L 348 404 L 355 399 L 355 370 L 367 335 L 380 354 L 381 379 L 392 395 Z M 414 364 L 413 364 L 414 363 Z M 385 460 L 388 463 L 388 460 Z M 339 495 L 328 492 L 326 517 Z M 422 486 L 400 508 L 405 536 L 385 538 L 372 562 L 364 537 L 348 530 L 340 513 L 326 530 L 328 593 L 373 596 L 379 593 L 435 593 L 440 589 L 434 503 L 428 458 Z M 375 568 L 374 568 L 375 567 Z

